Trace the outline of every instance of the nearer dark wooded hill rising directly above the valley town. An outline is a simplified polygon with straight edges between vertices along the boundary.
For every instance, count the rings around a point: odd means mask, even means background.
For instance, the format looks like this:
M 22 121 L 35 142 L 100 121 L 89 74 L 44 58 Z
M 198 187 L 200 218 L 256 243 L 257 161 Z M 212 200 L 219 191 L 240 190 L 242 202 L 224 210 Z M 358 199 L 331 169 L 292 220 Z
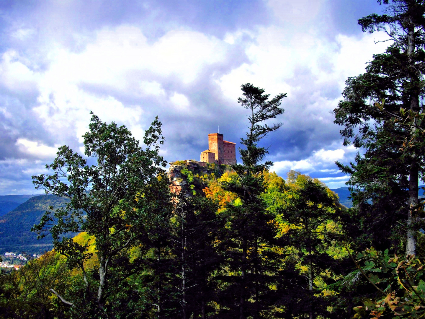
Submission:
M 49 206 L 60 207 L 66 199 L 55 195 L 40 195 L 29 198 L 17 208 L 0 217 L 0 254 L 5 251 L 42 253 L 53 245 L 51 236 L 37 240 L 31 227 L 40 222 Z

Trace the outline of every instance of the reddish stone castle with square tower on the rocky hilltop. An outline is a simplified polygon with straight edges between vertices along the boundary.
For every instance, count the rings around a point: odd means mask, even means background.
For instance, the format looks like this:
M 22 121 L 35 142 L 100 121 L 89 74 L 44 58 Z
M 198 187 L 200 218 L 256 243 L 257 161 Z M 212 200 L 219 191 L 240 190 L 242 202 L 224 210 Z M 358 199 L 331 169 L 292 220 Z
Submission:
M 236 164 L 236 143 L 223 140 L 223 134 L 208 134 L 208 149 L 201 153 L 201 162 Z

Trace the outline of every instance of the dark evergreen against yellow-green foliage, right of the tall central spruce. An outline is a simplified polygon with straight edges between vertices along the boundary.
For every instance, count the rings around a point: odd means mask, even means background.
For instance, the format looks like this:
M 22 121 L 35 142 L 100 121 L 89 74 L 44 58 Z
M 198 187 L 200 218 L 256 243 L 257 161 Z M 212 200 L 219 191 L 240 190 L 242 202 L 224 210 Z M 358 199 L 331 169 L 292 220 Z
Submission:
M 292 298 L 285 306 L 289 306 L 290 310 L 292 308 L 289 312 L 295 315 L 308 313 L 310 319 L 317 315 L 329 315 L 326 301 L 314 279 L 326 269 L 331 271 L 334 264 L 334 258 L 327 253 L 327 249 L 339 233 L 337 227 L 336 232 L 332 229 L 340 215 L 339 204 L 319 181 L 302 174 L 298 174 L 286 196 L 287 206 L 282 210 L 289 226 L 286 236 L 290 238 L 291 249 L 297 256 L 294 261 L 304 271 L 298 275 L 292 274 L 294 284 L 288 285 L 287 289 L 295 293 L 291 293 Z M 289 260 L 287 264 L 290 264 Z

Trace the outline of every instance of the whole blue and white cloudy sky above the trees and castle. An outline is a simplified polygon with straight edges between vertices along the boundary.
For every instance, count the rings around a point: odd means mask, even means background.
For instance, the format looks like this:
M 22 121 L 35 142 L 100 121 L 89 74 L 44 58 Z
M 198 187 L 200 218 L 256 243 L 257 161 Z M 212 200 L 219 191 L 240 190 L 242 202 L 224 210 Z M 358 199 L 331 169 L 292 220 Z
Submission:
M 287 93 L 268 159 L 331 188 L 348 179 L 331 110 L 347 77 L 388 43 L 357 19 L 376 0 L 28 0 L 0 3 L 0 195 L 37 194 L 57 147 L 82 151 L 89 111 L 137 138 L 159 115 L 168 161 L 198 159 L 207 134 L 239 143 L 242 83 Z

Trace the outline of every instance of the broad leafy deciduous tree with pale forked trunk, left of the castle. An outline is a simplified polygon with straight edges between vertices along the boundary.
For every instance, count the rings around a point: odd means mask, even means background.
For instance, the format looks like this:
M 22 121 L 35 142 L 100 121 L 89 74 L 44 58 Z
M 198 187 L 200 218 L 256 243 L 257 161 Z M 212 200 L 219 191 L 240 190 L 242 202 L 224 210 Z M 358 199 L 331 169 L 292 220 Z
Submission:
M 108 282 L 131 273 L 128 249 L 147 240 L 147 218 L 170 205 L 170 200 L 161 197 L 168 194 L 168 181 L 162 168 L 166 162 L 158 154 L 159 146 L 164 143 L 158 117 L 145 131 L 146 148 L 142 148 L 125 126 L 106 124 L 91 114 L 89 131 L 83 139 L 85 155 L 94 157 L 96 164 L 87 165 L 87 159 L 68 146 L 59 148 L 54 162 L 46 165 L 53 174 L 41 174 L 33 179 L 36 188 L 68 198 L 68 202 L 63 208 L 50 207 L 33 229 L 40 237 L 49 232 L 55 250 L 67 257 L 68 266 L 82 272 L 84 298 L 76 298 L 68 305 L 75 306 L 78 313 L 81 310 L 78 305 L 88 304 L 93 309 L 90 311 L 101 314 L 108 311 L 108 299 L 119 294 L 108 290 Z M 85 264 L 93 256 L 88 243 L 66 236 L 82 231 L 95 239 L 97 278 L 91 276 L 91 270 L 86 271 Z M 113 296 L 108 298 L 111 293 Z

